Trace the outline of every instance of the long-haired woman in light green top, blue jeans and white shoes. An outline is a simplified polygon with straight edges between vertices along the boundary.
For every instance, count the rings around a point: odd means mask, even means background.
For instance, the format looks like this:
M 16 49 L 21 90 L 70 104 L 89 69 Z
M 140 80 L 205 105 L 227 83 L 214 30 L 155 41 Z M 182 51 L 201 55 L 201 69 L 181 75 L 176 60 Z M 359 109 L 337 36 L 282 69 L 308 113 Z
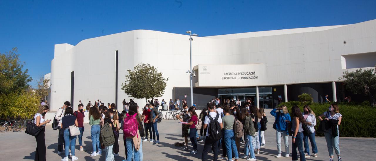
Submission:
M 91 134 L 91 143 L 93 147 L 93 152 L 90 154 L 91 156 L 97 156 L 97 154 L 102 155 L 102 150 L 100 150 L 100 146 L 99 146 L 100 118 L 102 118 L 102 115 L 99 113 L 98 107 L 97 106 L 90 107 L 89 125 L 91 125 L 90 134 Z

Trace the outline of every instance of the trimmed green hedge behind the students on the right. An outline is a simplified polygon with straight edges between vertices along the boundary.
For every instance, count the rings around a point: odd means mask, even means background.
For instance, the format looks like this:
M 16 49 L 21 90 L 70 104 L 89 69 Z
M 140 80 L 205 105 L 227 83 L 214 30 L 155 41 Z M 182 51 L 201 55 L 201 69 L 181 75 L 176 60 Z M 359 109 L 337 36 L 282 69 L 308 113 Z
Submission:
M 376 108 L 370 106 L 368 102 L 364 103 L 337 103 L 342 114 L 342 121 L 340 125 L 340 137 L 376 137 Z M 297 105 L 303 111 L 303 104 L 297 101 L 284 102 L 281 105 L 286 105 L 291 114 L 291 107 Z M 318 115 L 328 111 L 330 103 L 312 103 L 309 105 L 312 111 L 315 112 L 318 128 L 320 120 Z M 323 136 L 323 134 L 316 134 L 316 136 Z

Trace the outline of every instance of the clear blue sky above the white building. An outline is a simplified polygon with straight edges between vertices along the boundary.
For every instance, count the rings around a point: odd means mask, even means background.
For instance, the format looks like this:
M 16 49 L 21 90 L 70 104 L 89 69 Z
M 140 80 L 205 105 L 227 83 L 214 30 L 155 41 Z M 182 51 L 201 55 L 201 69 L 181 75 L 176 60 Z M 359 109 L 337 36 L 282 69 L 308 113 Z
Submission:
M 0 1 L 0 52 L 18 47 L 35 86 L 54 44 L 136 29 L 200 36 L 354 24 L 376 19 L 376 0 Z

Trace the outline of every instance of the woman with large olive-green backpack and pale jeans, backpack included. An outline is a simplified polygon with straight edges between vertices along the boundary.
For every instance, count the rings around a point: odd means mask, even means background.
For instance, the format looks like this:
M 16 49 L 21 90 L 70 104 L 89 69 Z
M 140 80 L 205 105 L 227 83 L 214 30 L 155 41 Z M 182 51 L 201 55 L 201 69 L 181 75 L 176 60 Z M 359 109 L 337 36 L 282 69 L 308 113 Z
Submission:
M 114 144 L 117 143 L 117 138 L 119 133 L 117 133 L 117 137 L 115 134 L 115 131 L 117 131 L 117 128 L 114 125 L 114 115 L 115 111 L 112 109 L 108 109 L 105 115 L 104 119 L 104 125 L 102 129 L 100 130 L 101 132 L 101 139 L 102 143 L 106 146 L 106 161 L 113 161 L 115 156 L 114 156 Z M 108 128 L 108 126 L 110 128 Z M 107 134 L 108 130 L 110 130 L 110 134 Z M 112 135 L 111 135 L 112 133 Z M 110 137 L 108 137 L 110 136 Z

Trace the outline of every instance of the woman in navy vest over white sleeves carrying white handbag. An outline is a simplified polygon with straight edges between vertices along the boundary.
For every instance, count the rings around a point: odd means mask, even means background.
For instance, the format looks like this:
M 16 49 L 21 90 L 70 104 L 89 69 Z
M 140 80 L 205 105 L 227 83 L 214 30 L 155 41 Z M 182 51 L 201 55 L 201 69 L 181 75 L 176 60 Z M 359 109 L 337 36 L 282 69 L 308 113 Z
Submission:
M 69 126 L 78 126 L 77 118 L 73 115 L 73 109 L 71 107 L 65 108 L 64 117 L 61 118 L 61 129 L 64 129 L 64 142 L 65 142 L 65 157 L 61 161 L 68 161 L 69 147 L 72 153 L 72 161 L 78 158 L 74 155 L 76 147 L 77 136 L 71 136 L 69 131 Z

